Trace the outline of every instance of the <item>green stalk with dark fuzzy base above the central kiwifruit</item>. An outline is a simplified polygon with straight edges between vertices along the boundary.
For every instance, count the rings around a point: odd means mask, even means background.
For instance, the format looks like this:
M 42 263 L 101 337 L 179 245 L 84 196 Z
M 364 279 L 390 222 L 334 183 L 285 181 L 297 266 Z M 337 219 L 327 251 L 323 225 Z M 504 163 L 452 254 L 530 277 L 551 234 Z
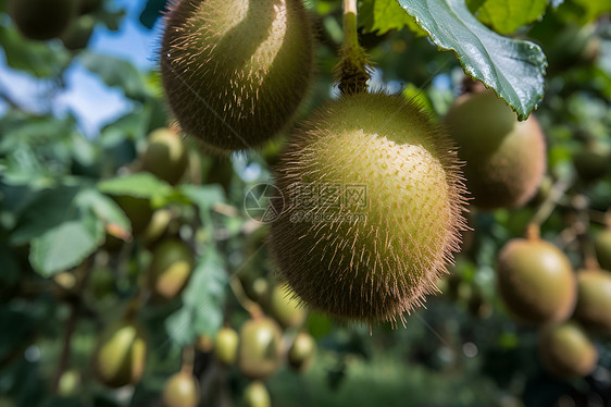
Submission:
M 339 48 L 339 63 L 335 77 L 342 95 L 361 94 L 371 78 L 371 63 L 357 33 L 357 0 L 344 1 L 344 44 Z

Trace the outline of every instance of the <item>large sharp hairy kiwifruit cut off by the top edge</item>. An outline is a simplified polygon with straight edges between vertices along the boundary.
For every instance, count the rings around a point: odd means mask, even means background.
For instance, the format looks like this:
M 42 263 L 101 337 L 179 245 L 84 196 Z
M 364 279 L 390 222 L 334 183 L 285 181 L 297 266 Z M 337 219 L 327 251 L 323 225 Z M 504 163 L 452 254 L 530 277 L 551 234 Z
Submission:
M 211 150 L 261 146 L 289 124 L 313 71 L 301 0 L 178 0 L 161 74 L 180 126 Z

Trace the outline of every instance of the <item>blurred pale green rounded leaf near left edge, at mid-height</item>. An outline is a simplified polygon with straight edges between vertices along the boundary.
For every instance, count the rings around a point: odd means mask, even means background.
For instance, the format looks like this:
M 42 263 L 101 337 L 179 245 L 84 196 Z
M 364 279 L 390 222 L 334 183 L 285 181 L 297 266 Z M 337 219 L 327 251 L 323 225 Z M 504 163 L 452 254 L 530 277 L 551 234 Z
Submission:
M 104 242 L 104 227 L 92 214 L 64 222 L 32 240 L 29 262 L 42 276 L 78 266 Z

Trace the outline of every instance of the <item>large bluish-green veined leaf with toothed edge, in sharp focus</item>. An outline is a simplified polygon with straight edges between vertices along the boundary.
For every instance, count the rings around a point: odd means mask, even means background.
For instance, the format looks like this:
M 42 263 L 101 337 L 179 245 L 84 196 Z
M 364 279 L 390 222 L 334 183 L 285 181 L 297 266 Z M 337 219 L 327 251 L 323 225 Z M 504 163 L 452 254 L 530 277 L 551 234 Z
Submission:
M 456 51 L 464 71 L 492 88 L 525 120 L 544 96 L 546 58 L 539 46 L 502 37 L 463 0 L 398 0 L 439 48 Z

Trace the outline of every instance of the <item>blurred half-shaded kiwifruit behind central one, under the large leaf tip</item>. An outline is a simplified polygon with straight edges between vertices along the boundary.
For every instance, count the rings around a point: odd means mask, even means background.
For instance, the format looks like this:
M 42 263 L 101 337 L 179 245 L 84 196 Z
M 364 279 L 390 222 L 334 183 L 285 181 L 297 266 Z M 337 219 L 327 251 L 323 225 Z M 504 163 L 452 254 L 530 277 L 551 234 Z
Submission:
M 473 205 L 519 207 L 535 195 L 546 170 L 546 144 L 533 115 L 519 122 L 502 99 L 486 90 L 460 97 L 445 123 L 465 161 Z

